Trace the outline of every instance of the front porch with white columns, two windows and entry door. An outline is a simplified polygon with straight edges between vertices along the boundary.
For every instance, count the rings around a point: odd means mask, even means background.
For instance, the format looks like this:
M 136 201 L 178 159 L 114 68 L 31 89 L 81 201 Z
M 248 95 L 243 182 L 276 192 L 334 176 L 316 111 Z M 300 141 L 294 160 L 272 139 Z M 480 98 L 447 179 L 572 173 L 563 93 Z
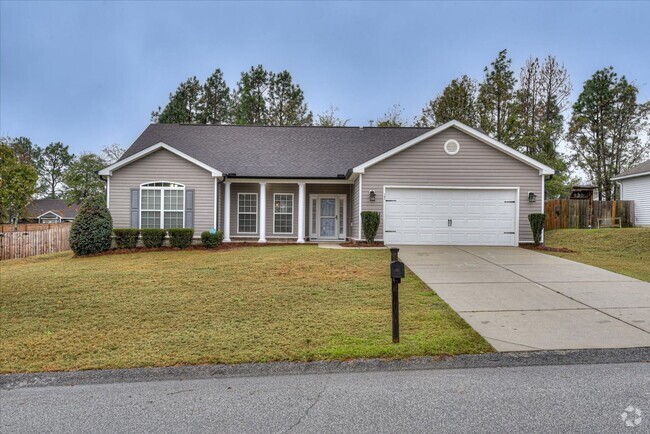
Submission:
M 226 179 L 219 189 L 225 242 L 346 241 L 353 184 L 347 180 Z

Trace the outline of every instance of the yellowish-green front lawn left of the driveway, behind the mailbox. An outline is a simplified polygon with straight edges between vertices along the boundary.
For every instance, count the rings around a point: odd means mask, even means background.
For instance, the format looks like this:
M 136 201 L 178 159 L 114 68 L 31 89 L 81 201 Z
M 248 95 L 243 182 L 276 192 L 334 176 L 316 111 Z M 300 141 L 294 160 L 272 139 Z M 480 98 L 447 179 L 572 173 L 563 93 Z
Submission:
M 412 273 L 391 342 L 387 250 L 54 254 L 0 263 L 0 372 L 482 353 Z

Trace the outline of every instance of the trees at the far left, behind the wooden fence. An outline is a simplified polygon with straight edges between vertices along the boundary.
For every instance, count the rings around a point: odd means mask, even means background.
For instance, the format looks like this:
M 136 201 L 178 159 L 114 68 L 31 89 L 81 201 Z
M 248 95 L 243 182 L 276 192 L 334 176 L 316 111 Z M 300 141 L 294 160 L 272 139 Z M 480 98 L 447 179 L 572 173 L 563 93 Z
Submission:
M 24 217 L 32 198 L 64 199 L 81 203 L 105 194 L 97 172 L 117 161 L 124 149 L 113 144 L 101 153 L 78 156 L 61 142 L 40 147 L 27 137 L 0 138 L 0 222 Z

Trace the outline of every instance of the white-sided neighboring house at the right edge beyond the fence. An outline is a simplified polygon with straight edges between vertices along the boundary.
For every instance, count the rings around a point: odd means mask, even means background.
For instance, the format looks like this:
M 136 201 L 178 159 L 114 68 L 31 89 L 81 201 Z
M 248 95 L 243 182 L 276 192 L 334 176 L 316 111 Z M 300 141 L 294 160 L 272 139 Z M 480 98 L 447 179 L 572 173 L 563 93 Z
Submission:
M 621 186 L 621 200 L 634 201 L 635 225 L 650 226 L 650 160 L 612 179 Z

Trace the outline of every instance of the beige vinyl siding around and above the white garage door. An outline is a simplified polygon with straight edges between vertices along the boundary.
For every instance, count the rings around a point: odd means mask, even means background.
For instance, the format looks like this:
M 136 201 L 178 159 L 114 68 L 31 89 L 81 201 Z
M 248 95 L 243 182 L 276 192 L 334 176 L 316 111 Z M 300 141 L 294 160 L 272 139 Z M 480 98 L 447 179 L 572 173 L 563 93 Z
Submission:
M 447 140 L 460 143 L 456 155 L 447 155 L 443 147 Z M 450 128 L 412 146 L 365 170 L 361 191 L 363 210 L 378 211 L 381 222 L 378 239 L 383 238 L 383 206 L 385 185 L 436 187 L 519 187 L 519 241 L 532 241 L 528 214 L 543 212 L 542 176 L 533 167 Z M 368 192 L 375 190 L 377 198 L 370 202 Z M 528 192 L 537 201 L 528 202 Z

